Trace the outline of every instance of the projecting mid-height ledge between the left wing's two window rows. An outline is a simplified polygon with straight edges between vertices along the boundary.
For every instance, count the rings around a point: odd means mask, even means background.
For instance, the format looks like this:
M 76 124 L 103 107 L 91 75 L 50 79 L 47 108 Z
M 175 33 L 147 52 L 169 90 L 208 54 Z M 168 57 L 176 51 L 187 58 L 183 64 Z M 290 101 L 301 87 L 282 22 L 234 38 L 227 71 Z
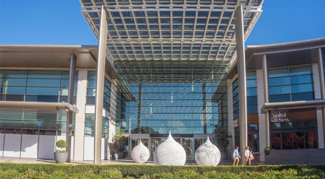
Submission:
M 0 108 L 38 108 L 38 109 L 49 109 L 55 111 L 58 107 L 59 110 L 72 111 L 78 113 L 79 109 L 71 105 L 70 103 L 51 103 L 51 102 L 22 102 L 22 101 L 0 101 Z M 57 111 L 58 112 L 58 111 Z

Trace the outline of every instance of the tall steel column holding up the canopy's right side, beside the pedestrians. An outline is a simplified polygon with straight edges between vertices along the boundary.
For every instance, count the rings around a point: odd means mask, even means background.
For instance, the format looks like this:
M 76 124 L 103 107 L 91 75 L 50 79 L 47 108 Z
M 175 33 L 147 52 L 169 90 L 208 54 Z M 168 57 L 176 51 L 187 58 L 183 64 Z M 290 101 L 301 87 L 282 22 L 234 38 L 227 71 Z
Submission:
M 246 99 L 246 63 L 245 63 L 245 36 L 243 30 L 242 5 L 235 11 L 237 72 L 239 87 L 239 140 L 241 162 L 245 163 L 245 147 L 247 146 L 247 99 Z

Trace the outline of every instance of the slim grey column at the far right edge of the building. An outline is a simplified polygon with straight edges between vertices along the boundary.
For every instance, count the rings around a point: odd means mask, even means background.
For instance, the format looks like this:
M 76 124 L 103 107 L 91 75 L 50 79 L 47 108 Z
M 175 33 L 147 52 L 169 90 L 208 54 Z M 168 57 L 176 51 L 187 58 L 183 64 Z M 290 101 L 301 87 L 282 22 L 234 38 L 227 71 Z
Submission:
M 319 84 L 320 84 L 320 97 L 325 99 L 325 79 L 324 79 L 324 62 L 321 54 L 321 48 L 317 49 L 318 56 L 318 72 L 319 72 Z M 323 131 L 325 130 L 325 108 L 321 107 L 322 120 L 323 120 Z M 323 140 L 325 144 L 325 132 L 323 132 Z

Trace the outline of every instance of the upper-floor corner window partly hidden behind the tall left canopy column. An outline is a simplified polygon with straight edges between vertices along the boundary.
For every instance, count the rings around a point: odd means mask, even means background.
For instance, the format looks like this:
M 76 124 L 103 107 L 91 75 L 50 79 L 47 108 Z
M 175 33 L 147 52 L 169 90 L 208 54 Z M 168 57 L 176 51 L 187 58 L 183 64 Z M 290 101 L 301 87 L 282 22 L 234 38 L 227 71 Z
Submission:
M 90 105 L 95 104 L 96 78 L 97 78 L 97 76 L 96 76 L 95 71 L 88 71 L 86 104 L 90 104 Z M 105 77 L 105 79 L 104 79 L 103 108 L 106 111 L 110 112 L 110 104 L 111 104 L 111 82 Z

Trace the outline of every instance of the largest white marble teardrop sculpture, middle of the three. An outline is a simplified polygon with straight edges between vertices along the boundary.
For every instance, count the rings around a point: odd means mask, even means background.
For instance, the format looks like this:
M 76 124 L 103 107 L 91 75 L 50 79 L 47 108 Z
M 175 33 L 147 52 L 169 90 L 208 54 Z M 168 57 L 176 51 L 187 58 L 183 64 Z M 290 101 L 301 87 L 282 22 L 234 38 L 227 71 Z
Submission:
M 153 154 L 153 161 L 156 165 L 184 165 L 186 153 L 182 145 L 176 142 L 171 132 L 167 139 L 157 146 Z

